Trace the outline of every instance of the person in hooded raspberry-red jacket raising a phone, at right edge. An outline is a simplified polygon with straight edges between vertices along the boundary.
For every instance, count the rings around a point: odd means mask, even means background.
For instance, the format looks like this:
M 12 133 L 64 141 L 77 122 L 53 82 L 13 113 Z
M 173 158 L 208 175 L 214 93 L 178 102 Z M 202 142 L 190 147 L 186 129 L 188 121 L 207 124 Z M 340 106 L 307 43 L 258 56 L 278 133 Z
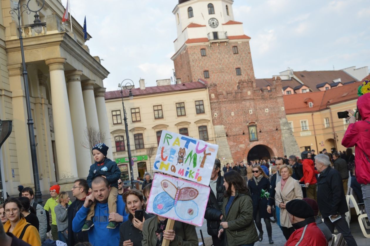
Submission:
M 359 91 L 370 92 L 370 82 L 363 81 L 362 89 L 359 88 Z M 351 109 L 347 112 L 352 116 L 347 118 L 350 124 L 342 139 L 342 145 L 347 148 L 355 146 L 356 179 L 361 184 L 367 218 L 370 219 L 370 93 L 359 97 L 356 114 Z

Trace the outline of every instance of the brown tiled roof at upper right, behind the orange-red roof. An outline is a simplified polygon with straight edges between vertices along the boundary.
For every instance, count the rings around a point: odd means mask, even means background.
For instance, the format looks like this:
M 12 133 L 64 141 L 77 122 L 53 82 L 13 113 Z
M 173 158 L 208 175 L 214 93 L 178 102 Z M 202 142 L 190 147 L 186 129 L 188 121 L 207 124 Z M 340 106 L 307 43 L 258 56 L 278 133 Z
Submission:
M 299 78 L 307 87 L 312 91 L 320 91 L 316 85 L 328 82 L 329 84 L 333 80 L 340 78 L 342 83 L 354 81 L 355 78 L 342 70 L 334 71 L 296 71 L 294 75 Z

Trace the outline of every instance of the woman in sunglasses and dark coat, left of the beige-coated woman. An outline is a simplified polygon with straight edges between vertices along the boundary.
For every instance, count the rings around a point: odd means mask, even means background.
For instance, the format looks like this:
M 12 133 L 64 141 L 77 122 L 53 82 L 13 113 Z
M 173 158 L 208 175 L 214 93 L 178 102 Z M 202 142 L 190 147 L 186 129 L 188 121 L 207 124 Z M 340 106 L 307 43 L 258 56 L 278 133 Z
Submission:
M 252 169 L 253 176 L 248 181 L 248 188 L 252 193 L 253 203 L 253 219 L 256 222 L 257 229 L 259 230 L 259 241 L 263 239 L 263 230 L 261 218 L 265 221 L 267 235 L 269 236 L 269 243 L 273 244 L 272 228 L 270 222 L 271 213 L 267 211 L 267 203 L 270 192 L 269 177 L 263 172 L 261 166 L 255 165 Z

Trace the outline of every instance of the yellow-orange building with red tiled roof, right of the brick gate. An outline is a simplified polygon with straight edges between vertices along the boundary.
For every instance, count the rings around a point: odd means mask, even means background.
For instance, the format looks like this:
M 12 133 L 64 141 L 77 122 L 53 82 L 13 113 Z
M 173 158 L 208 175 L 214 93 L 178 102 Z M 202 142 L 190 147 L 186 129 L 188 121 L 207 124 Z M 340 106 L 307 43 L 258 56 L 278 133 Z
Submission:
M 339 119 L 337 112 L 356 110 L 359 85 L 355 82 L 327 91 L 284 95 L 286 118 L 301 152 L 346 150 L 342 139 L 349 122 Z

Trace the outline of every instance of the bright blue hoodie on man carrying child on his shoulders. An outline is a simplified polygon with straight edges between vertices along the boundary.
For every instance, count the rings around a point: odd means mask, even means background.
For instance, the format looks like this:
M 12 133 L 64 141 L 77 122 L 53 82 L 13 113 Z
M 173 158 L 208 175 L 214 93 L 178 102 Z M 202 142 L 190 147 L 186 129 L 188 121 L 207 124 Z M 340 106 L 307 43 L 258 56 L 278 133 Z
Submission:
M 72 230 L 80 232 L 84 226 L 88 208 L 82 206 L 77 211 L 72 221 Z M 117 199 L 117 213 L 123 216 L 123 222 L 128 219 L 125 211 L 125 203 L 120 197 Z M 120 243 L 120 224 L 115 229 L 107 229 L 108 225 L 108 203 L 96 203 L 94 208 L 94 226 L 88 230 L 89 242 L 94 246 L 117 246 Z M 122 222 L 122 223 L 123 223 Z

